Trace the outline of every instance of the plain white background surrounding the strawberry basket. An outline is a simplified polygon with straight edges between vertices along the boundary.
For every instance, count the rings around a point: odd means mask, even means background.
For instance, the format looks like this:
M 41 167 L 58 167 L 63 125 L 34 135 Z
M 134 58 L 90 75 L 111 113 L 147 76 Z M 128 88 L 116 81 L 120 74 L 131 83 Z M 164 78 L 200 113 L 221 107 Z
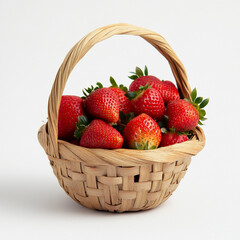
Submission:
M 1 239 L 240 239 L 240 2 L 0 1 Z M 126 22 L 163 35 L 191 87 L 210 97 L 207 142 L 173 196 L 138 213 L 88 210 L 58 185 L 37 141 L 55 74 L 70 48 L 97 27 Z M 174 81 L 147 42 L 115 36 L 91 49 L 65 94 L 112 75 L 130 84 L 138 65 Z

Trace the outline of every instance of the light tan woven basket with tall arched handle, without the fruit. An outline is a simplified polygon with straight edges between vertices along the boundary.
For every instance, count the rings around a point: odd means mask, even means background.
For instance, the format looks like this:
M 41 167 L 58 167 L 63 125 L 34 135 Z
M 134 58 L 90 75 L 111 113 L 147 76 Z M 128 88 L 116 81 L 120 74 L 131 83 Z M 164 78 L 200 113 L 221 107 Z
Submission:
M 96 43 L 119 34 L 140 36 L 155 47 L 168 60 L 180 96 L 190 96 L 185 68 L 161 35 L 129 24 L 113 24 L 89 33 L 69 51 L 49 97 L 48 122 L 38 132 L 65 192 L 85 207 L 110 212 L 147 210 L 166 201 L 184 177 L 191 157 L 205 144 L 200 127 L 191 140 L 154 150 L 91 149 L 58 139 L 58 109 L 71 71 Z

